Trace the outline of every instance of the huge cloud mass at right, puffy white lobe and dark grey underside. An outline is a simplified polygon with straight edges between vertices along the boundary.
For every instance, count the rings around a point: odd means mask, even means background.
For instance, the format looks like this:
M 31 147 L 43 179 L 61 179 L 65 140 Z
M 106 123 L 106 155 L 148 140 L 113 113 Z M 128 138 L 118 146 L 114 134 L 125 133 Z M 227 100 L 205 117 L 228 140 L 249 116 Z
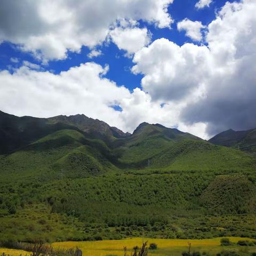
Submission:
M 227 2 L 207 27 L 207 46 L 162 38 L 144 47 L 132 68 L 143 74 L 143 90 L 176 101 L 180 122 L 201 124 L 209 135 L 256 127 L 255 13 L 255 1 Z

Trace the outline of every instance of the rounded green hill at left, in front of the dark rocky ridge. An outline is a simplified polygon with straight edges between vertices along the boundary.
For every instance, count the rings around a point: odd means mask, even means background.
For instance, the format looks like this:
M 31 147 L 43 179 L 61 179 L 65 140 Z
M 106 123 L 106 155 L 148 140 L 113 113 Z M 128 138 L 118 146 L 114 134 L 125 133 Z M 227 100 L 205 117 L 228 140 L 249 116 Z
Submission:
M 2 175 L 12 178 L 83 178 L 115 170 L 89 141 L 75 130 L 60 130 L 10 155 L 1 156 Z M 102 142 L 103 143 L 103 142 Z M 102 148 L 102 145 L 100 145 Z

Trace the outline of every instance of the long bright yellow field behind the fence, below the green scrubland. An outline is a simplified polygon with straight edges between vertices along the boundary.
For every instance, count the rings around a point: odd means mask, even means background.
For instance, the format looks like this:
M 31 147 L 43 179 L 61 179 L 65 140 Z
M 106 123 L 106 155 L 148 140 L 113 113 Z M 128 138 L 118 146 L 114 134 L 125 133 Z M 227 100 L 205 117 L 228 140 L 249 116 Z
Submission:
M 188 242 L 191 243 L 191 251 L 207 252 L 210 255 L 216 255 L 222 250 L 237 251 L 240 255 L 250 255 L 256 252 L 256 246 L 220 246 L 221 238 L 186 240 L 186 239 L 153 239 L 144 238 L 144 241 L 156 243 L 158 249 L 149 251 L 149 256 L 181 256 L 183 251 L 188 250 Z M 230 241 L 237 243 L 239 240 L 253 240 L 250 238 L 229 237 Z M 123 240 L 106 241 L 84 241 L 84 242 L 59 242 L 53 243 L 54 247 L 76 247 L 83 251 L 84 256 L 106 256 L 106 255 L 124 255 L 123 248 L 131 251 L 136 245 L 141 246 L 142 238 L 127 238 Z

